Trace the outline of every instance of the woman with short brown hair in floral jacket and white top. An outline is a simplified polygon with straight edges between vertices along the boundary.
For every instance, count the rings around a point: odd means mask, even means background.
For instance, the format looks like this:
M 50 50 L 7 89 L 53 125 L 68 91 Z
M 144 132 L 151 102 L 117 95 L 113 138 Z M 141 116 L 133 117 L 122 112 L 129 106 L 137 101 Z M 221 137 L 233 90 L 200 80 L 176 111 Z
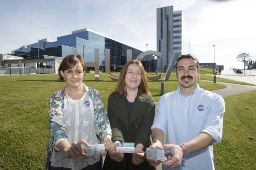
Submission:
M 66 87 L 50 97 L 47 170 L 100 170 L 101 156 L 87 156 L 84 147 L 103 143 L 105 151 L 114 148 L 101 95 L 82 83 L 85 72 L 80 55 L 68 55 L 59 66 L 59 79 Z

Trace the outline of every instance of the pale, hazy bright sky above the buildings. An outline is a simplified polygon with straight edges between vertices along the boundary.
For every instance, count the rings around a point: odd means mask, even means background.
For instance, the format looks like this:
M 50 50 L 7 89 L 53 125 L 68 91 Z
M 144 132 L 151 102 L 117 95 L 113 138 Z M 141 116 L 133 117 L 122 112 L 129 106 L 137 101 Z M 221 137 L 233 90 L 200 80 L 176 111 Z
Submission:
M 156 9 L 170 5 L 182 10 L 200 63 L 243 68 L 240 52 L 256 60 L 255 0 L 0 0 L 0 54 L 84 28 L 156 50 Z

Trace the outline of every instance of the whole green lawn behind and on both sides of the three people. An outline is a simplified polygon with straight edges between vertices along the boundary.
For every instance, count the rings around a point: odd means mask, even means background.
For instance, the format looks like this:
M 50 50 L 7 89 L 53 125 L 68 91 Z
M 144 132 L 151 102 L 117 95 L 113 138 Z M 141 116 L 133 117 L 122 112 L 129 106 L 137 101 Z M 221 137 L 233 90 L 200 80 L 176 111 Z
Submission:
M 203 76 L 205 75 L 202 74 L 201 77 Z M 46 148 L 50 138 L 48 101 L 50 95 L 65 86 L 65 82 L 59 82 L 57 77 L 0 76 L 1 170 L 44 169 Z M 158 81 L 149 81 L 149 91 L 156 102 L 160 98 L 160 83 L 163 77 L 164 74 Z M 108 78 L 105 73 L 100 74 L 100 81 L 94 81 L 94 74 L 87 73 L 84 82 L 100 92 L 107 107 L 107 97 L 117 82 Z M 199 81 L 199 85 L 207 90 L 225 88 L 223 85 L 205 81 Z M 170 79 L 165 82 L 165 93 L 174 91 L 177 87 L 175 74 L 171 73 Z M 241 95 L 225 98 L 227 111 L 224 116 L 223 142 L 214 147 L 216 169 L 256 168 L 252 161 L 255 160 L 256 152 L 256 106 L 249 105 L 256 99 L 256 91 L 253 94 L 245 93 L 245 100 L 241 100 Z

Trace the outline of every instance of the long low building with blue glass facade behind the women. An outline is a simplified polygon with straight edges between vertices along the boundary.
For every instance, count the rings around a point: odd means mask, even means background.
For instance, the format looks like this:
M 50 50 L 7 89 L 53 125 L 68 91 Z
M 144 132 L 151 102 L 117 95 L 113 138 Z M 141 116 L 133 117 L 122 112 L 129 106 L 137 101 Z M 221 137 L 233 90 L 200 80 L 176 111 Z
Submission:
M 46 55 L 48 57 L 53 56 L 64 58 L 69 54 L 80 54 L 84 57 L 86 62 L 94 63 L 95 48 L 99 49 L 99 65 L 101 68 L 105 67 L 105 49 L 110 49 L 111 70 L 114 70 L 114 66 L 116 68 L 115 70 L 121 70 L 121 67 L 126 63 L 126 50 L 132 50 L 133 59 L 137 58 L 137 56 L 142 53 L 140 50 L 110 39 L 89 29 L 81 29 L 73 31 L 72 34 L 69 35 L 59 36 L 57 37 L 57 41 L 42 39 L 37 43 L 14 50 L 12 53 L 24 57 L 24 59 L 44 59 L 44 56 Z M 147 59 L 151 61 L 154 60 L 154 57 L 150 56 L 147 57 Z

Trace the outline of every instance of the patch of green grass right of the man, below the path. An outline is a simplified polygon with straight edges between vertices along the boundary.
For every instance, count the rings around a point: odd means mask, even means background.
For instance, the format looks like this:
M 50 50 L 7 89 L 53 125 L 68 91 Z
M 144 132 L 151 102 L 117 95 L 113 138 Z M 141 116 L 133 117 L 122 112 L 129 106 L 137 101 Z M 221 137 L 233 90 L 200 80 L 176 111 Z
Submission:
M 222 143 L 214 146 L 216 170 L 256 170 L 256 90 L 224 98 Z

